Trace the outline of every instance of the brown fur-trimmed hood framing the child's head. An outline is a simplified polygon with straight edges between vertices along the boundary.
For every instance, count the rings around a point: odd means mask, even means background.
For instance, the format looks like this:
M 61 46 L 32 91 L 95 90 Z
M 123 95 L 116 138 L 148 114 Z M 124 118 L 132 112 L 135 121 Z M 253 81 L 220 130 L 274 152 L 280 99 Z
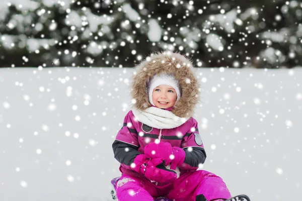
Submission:
M 135 66 L 131 96 L 136 100 L 133 107 L 145 110 L 151 107 L 147 86 L 155 74 L 169 73 L 175 75 L 181 88 L 181 97 L 171 112 L 181 118 L 192 117 L 199 99 L 199 83 L 194 76 L 193 63 L 179 53 L 162 52 L 146 57 Z

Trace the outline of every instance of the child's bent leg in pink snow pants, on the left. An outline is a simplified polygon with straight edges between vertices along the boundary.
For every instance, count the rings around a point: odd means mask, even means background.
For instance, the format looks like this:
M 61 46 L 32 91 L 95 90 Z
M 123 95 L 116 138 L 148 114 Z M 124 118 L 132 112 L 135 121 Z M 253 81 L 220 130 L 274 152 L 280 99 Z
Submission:
M 150 195 L 156 192 L 152 183 L 141 177 L 133 175 L 122 175 L 116 184 L 116 195 L 119 201 L 153 201 L 154 198 Z M 148 191 L 146 190 L 148 189 Z

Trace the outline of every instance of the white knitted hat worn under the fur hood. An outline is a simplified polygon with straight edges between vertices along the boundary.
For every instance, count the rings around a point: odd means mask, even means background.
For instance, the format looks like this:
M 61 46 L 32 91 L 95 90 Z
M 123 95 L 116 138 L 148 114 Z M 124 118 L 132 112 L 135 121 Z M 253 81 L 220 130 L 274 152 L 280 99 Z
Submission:
M 166 85 L 172 86 L 175 89 L 176 94 L 177 94 L 177 99 L 176 99 L 176 102 L 177 102 L 181 96 L 178 81 L 175 79 L 174 75 L 172 75 L 172 74 L 160 74 L 160 75 L 155 75 L 148 84 L 148 94 L 149 94 L 150 104 L 155 106 L 153 103 L 153 100 L 152 100 L 153 90 L 155 87 L 157 87 L 161 84 L 166 84 Z

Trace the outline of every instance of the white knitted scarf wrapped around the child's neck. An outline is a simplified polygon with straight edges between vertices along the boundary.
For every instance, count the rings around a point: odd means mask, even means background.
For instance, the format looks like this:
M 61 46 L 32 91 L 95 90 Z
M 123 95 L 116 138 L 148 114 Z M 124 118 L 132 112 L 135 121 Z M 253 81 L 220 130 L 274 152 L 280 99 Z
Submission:
M 189 119 L 189 117 L 180 118 L 170 111 L 156 107 L 150 107 L 144 111 L 133 108 L 132 112 L 137 121 L 157 129 L 173 129 L 183 125 Z

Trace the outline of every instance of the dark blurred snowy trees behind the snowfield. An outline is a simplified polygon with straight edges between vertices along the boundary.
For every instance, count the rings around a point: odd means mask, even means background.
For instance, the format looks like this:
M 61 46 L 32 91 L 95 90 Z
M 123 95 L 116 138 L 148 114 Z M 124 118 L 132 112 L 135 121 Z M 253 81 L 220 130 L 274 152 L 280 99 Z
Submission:
M 302 2 L 1 0 L 0 67 L 132 67 L 177 51 L 198 67 L 302 63 Z

